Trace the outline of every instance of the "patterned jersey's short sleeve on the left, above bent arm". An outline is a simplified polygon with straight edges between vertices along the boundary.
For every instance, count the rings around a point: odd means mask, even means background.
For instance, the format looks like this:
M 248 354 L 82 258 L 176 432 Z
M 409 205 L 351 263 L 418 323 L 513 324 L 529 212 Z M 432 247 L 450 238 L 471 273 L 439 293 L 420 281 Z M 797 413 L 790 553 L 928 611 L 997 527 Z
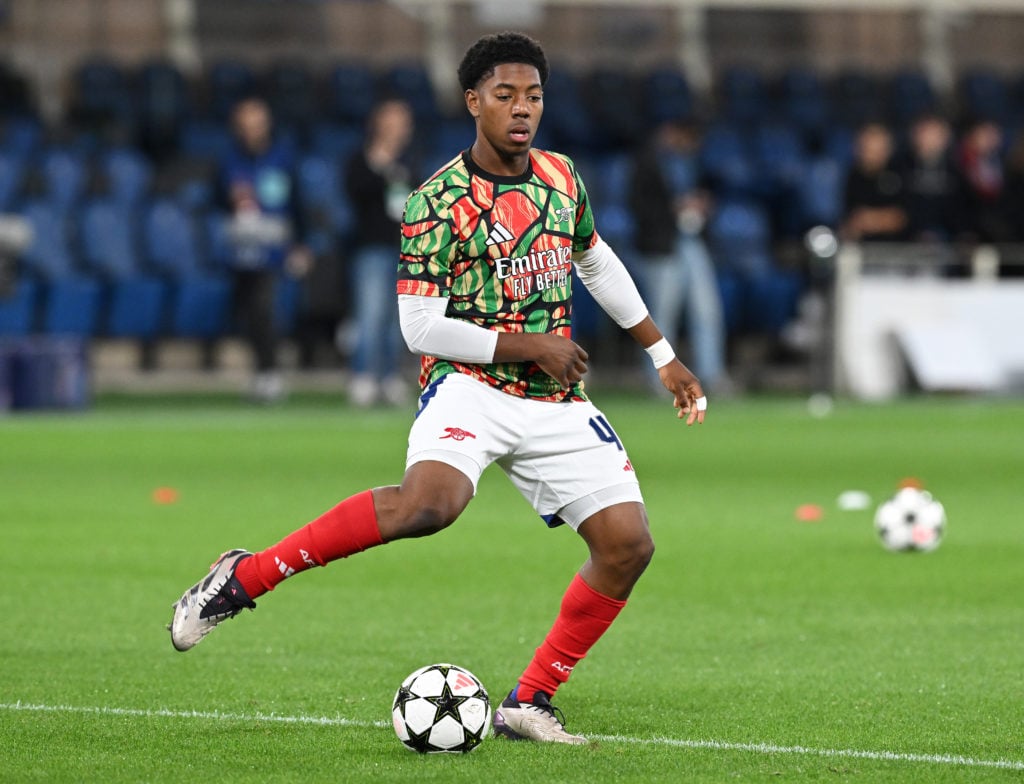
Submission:
M 423 190 L 406 202 L 398 258 L 398 294 L 447 297 L 456 237 L 447 211 Z

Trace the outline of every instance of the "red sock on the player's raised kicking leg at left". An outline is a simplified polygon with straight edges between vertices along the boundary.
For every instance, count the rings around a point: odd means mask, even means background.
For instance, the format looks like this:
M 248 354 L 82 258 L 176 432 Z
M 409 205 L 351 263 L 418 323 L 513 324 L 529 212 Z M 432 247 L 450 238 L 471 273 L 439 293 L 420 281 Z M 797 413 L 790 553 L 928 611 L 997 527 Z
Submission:
M 360 492 L 290 533 L 273 547 L 254 553 L 234 570 L 250 599 L 296 572 L 383 545 L 372 490 Z

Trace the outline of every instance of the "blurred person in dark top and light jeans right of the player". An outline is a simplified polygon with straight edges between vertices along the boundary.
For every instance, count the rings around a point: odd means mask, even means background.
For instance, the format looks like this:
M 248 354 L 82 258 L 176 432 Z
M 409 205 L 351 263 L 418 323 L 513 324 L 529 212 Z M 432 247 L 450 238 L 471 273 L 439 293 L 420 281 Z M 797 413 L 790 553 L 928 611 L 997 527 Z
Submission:
M 691 123 L 659 125 L 635 156 L 629 204 L 651 317 L 673 341 L 686 316 L 693 368 L 706 389 L 721 392 L 730 382 L 721 294 L 702 236 L 711 198 L 699 146 L 699 132 Z M 652 389 L 662 389 L 656 371 L 648 375 Z

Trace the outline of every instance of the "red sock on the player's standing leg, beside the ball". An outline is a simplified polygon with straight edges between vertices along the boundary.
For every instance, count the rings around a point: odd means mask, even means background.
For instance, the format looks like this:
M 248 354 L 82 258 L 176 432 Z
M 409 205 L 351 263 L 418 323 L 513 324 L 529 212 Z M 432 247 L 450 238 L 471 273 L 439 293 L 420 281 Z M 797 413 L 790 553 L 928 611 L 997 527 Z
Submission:
M 519 679 L 519 701 L 532 701 L 536 692 L 554 696 L 625 606 L 625 601 L 597 593 L 577 574 L 562 597 L 555 624 Z

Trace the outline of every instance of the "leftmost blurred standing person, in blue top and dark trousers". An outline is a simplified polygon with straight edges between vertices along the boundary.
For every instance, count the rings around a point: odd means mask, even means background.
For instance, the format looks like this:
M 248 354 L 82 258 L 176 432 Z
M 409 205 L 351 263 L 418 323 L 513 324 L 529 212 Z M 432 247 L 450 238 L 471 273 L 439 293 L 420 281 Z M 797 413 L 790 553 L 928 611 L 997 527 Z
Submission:
M 234 143 L 221 165 L 221 186 L 230 212 L 231 270 L 236 309 L 256 362 L 253 397 L 272 402 L 285 395 L 278 369 L 274 303 L 278 277 L 301 276 L 311 264 L 301 236 L 294 166 L 274 140 L 270 111 L 259 98 L 240 101 L 231 115 Z

